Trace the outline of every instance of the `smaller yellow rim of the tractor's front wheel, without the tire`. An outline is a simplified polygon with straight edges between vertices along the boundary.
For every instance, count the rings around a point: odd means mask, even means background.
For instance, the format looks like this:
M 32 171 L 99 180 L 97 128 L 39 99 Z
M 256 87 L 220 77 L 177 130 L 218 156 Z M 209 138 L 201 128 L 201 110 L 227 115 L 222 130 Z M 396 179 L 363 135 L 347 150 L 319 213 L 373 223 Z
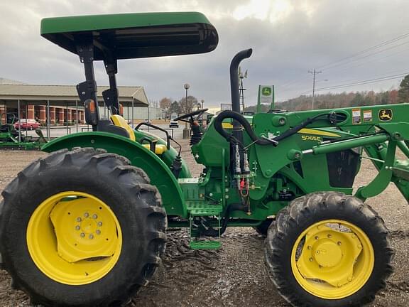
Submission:
M 291 252 L 291 268 L 305 291 L 339 299 L 366 284 L 374 258 L 371 241 L 359 227 L 343 220 L 324 220 L 298 237 Z

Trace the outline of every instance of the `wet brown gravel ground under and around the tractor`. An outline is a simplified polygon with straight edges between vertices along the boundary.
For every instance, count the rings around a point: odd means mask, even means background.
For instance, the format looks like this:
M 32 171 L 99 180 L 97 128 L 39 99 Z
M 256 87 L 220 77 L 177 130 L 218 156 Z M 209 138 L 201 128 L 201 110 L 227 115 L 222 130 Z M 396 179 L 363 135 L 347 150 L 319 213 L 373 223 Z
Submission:
M 183 156 L 197 176 L 190 149 L 182 142 Z M 0 151 L 0 190 L 31 161 L 46 154 L 40 151 Z M 376 176 L 370 161 L 364 160 L 355 185 L 364 185 Z M 409 206 L 393 185 L 367 200 L 383 217 L 392 232 L 396 250 L 394 274 L 371 306 L 409 305 Z M 27 296 L 11 289 L 10 277 L 0 271 L 0 306 L 30 306 Z M 153 281 L 133 297 L 128 307 L 141 306 L 288 306 L 274 289 L 263 264 L 263 237 L 252 228 L 230 228 L 216 251 L 188 248 L 186 230 L 168 232 L 163 264 Z

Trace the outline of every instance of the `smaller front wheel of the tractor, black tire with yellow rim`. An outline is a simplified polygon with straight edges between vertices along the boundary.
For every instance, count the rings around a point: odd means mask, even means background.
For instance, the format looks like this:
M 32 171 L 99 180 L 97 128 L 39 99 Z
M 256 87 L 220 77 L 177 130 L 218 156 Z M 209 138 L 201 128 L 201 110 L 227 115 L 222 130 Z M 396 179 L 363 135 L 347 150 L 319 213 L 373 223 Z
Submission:
M 358 198 L 312 193 L 278 213 L 266 238 L 266 265 L 293 306 L 362 306 L 392 272 L 388 235 Z

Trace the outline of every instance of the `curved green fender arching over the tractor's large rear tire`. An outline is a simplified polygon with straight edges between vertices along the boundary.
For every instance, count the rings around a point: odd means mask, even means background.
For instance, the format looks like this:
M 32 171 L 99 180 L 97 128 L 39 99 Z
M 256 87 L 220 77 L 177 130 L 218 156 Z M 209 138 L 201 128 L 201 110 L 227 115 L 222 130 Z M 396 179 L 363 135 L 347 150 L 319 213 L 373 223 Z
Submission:
M 158 188 L 166 213 L 187 218 L 185 200 L 177 179 L 156 154 L 141 144 L 107 132 L 81 132 L 61 136 L 45 144 L 41 150 L 49 153 L 59 149 L 70 150 L 72 147 L 105 149 L 109 153 L 128 158 L 133 166 L 143 169 L 151 179 L 151 184 Z

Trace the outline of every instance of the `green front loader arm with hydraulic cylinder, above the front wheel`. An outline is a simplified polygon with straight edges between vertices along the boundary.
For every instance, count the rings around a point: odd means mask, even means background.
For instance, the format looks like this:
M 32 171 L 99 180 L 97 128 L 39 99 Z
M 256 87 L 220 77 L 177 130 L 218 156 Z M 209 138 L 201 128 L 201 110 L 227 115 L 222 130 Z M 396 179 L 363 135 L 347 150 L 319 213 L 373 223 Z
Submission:
M 306 139 L 316 139 L 308 145 L 297 141 L 297 136 L 291 136 L 280 141 L 276 149 L 266 146 L 256 147 L 256 159 L 261 166 L 258 181 L 275 176 L 278 170 L 297 160 L 304 160 L 307 156 L 320 156 L 345 150 L 364 149 L 366 156 L 378 169 L 378 175 L 365 187 L 356 191 L 356 196 L 365 200 L 381 193 L 390 183 L 396 183 L 404 197 L 409 199 L 409 161 L 396 161 L 396 147 L 409 157 L 409 149 L 405 141 L 409 140 L 409 124 L 407 114 L 409 104 L 389 104 L 370 107 L 352 107 L 345 109 L 323 109 L 305 112 L 281 114 L 256 114 L 253 118 L 253 127 L 259 136 L 275 138 L 285 134 L 312 117 L 322 114 L 320 119 L 308 124 L 302 131 L 341 131 L 349 134 L 339 138 L 325 139 L 320 136 L 306 136 Z M 327 114 L 327 115 L 326 115 Z M 336 120 L 333 120 L 336 119 Z M 273 124 L 273 127 L 271 126 Z M 313 132 L 311 134 L 314 134 Z M 316 134 L 319 135 L 319 134 Z M 299 139 L 299 137 L 298 137 Z M 279 152 L 279 149 L 283 152 Z M 274 152 L 275 151 L 275 152 Z M 271 160 L 274 156 L 274 160 Z M 336 166 L 334 166 L 336 167 Z M 273 169 L 274 168 L 274 169 Z M 265 186 L 253 191 L 256 199 L 263 198 Z M 323 186 L 323 185 L 322 185 Z M 322 188 L 322 186 L 320 188 Z M 264 188 L 264 189 L 263 189 Z M 329 187 L 332 189 L 332 187 Z M 334 190 L 334 189 L 332 189 Z

